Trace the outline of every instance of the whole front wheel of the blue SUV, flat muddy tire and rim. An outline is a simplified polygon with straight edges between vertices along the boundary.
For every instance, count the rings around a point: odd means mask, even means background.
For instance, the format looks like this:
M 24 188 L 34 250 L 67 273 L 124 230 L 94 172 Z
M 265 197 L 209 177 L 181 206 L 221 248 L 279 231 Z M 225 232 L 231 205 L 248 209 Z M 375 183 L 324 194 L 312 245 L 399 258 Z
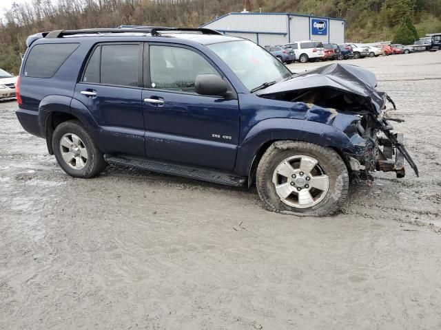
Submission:
M 256 186 L 275 212 L 322 217 L 342 207 L 349 175 L 340 155 L 308 142 L 274 142 L 260 159 Z

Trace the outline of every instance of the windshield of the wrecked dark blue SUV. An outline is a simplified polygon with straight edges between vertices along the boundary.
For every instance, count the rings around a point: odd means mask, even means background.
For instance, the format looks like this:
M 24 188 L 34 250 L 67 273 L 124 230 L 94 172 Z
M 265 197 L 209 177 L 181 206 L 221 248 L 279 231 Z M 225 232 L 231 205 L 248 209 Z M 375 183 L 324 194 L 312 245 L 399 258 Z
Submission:
M 232 69 L 249 91 L 291 76 L 283 63 L 252 41 L 229 41 L 207 47 Z

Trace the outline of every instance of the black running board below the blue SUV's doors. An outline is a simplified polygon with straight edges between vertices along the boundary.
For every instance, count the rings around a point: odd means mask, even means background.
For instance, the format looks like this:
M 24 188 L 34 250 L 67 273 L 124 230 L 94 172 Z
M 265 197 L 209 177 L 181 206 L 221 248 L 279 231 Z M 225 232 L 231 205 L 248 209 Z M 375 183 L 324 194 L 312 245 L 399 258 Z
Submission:
M 240 177 L 220 170 L 165 163 L 141 157 L 104 155 L 104 159 L 110 164 L 141 168 L 143 170 L 151 170 L 152 172 L 188 177 L 190 179 L 209 181 L 215 184 L 225 184 L 226 186 L 243 186 L 247 181 L 246 177 Z

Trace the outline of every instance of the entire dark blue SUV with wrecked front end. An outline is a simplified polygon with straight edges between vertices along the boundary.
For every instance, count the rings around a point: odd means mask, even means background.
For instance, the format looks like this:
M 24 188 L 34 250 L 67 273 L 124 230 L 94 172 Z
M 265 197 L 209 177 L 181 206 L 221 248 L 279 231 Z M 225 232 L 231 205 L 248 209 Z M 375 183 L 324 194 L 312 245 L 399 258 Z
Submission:
M 402 177 L 407 159 L 418 175 L 384 115 L 393 102 L 359 67 L 292 74 L 207 29 L 59 30 L 27 45 L 17 117 L 72 177 L 110 163 L 255 182 L 267 209 L 323 216 L 340 209 L 351 174 Z

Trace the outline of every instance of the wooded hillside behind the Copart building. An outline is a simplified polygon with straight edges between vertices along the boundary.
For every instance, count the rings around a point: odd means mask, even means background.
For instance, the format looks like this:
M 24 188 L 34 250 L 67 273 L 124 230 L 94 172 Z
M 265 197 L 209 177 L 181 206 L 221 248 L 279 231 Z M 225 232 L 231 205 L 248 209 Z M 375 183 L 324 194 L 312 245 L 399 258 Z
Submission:
M 412 41 L 441 32 L 441 0 L 250 0 L 248 8 L 347 19 L 347 40 Z M 50 30 L 118 25 L 197 27 L 227 12 L 237 0 L 30 0 L 14 4 L 0 23 L 0 67 L 17 74 L 28 35 Z

